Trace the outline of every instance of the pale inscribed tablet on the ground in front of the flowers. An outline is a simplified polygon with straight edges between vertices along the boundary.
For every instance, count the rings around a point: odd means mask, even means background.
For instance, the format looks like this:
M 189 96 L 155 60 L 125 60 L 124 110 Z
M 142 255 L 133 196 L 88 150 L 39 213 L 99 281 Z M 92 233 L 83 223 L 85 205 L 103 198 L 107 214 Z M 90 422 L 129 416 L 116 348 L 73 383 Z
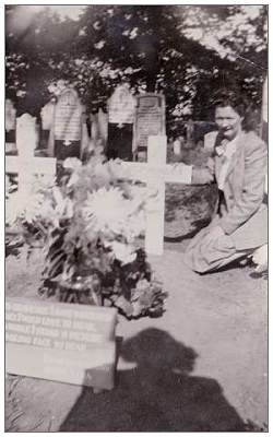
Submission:
M 111 389 L 117 310 L 9 297 L 5 370 L 9 374 Z

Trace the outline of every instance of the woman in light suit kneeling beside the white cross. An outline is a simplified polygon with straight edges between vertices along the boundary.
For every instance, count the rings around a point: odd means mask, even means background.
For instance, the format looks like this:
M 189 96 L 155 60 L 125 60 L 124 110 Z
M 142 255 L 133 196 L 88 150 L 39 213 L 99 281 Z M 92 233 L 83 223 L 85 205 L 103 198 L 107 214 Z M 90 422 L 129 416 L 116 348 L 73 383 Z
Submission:
M 215 178 L 219 192 L 216 216 L 186 251 L 186 263 L 200 273 L 251 256 L 268 240 L 268 210 L 263 203 L 266 145 L 247 128 L 247 108 L 240 96 L 222 92 L 215 103 L 218 130 L 204 139 L 204 147 L 211 149 L 212 155 L 206 168 L 192 176 L 193 184 Z

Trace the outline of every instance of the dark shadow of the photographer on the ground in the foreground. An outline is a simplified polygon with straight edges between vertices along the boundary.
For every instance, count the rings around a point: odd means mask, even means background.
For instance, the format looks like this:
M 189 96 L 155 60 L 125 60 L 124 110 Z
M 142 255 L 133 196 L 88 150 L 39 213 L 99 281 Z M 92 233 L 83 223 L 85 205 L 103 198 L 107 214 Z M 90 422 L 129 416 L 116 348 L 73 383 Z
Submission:
M 245 430 L 217 381 L 190 376 L 197 353 L 167 332 L 140 332 L 122 344 L 121 356 L 135 368 L 119 371 L 112 391 L 84 388 L 60 430 Z

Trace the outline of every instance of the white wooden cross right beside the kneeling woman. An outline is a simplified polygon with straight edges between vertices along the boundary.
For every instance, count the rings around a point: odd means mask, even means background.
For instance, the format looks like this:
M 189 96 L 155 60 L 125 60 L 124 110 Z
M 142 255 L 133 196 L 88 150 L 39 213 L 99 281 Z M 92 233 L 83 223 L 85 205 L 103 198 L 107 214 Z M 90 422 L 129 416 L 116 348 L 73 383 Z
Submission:
M 120 163 L 127 175 L 146 182 L 149 192 L 157 192 L 146 205 L 145 250 L 150 255 L 163 255 L 165 184 L 191 184 L 191 166 L 166 164 L 167 137 L 149 137 L 147 163 Z

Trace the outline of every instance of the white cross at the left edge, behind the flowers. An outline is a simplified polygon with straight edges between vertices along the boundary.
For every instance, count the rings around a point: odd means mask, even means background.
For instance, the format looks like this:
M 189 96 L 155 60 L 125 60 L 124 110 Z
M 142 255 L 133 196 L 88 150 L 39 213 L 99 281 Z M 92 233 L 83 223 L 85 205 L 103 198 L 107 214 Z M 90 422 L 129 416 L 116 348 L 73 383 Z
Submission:
M 54 177 L 56 175 L 56 158 L 36 157 L 37 134 L 35 118 L 24 114 L 16 122 L 17 156 L 5 156 L 5 173 L 17 174 L 17 191 L 21 196 L 29 192 L 35 175 Z

